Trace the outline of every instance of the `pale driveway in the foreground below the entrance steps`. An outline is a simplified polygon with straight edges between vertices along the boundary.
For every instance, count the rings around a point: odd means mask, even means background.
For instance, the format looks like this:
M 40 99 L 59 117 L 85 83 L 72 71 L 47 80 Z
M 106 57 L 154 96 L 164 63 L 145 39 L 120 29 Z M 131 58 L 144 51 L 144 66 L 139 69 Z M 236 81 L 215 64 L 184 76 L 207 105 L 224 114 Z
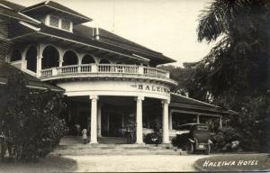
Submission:
M 76 160 L 76 172 L 195 171 L 193 163 L 204 155 L 93 155 L 65 156 Z

